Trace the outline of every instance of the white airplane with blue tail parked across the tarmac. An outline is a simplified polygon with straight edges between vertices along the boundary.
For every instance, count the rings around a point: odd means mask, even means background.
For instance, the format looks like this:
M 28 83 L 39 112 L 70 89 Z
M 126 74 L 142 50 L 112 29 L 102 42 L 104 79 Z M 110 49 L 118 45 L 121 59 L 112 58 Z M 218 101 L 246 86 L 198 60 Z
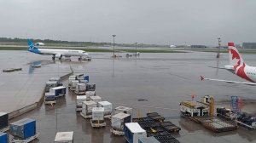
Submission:
M 38 49 L 34 46 L 31 40 L 27 39 L 28 51 L 35 54 L 44 54 L 44 55 L 52 55 L 52 60 L 55 58 L 59 58 L 61 60 L 62 56 L 71 57 L 71 56 L 79 56 L 79 60 L 82 60 L 82 57 L 88 57 L 88 53 L 83 50 L 75 50 L 75 49 Z

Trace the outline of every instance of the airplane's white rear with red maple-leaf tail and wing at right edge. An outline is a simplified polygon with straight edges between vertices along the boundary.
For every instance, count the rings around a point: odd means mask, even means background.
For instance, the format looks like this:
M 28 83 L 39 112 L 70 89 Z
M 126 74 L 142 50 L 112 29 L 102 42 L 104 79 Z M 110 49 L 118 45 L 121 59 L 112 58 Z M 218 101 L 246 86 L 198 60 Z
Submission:
M 210 81 L 218 81 L 218 82 L 226 82 L 226 83 L 241 83 L 247 85 L 256 85 L 256 67 L 248 66 L 244 60 L 241 58 L 238 50 L 235 47 L 235 43 L 228 43 L 229 46 L 229 55 L 230 55 L 230 65 L 224 66 L 224 69 L 236 74 L 237 76 L 246 79 L 250 83 L 247 82 L 236 82 L 229 81 L 223 79 L 212 79 L 205 78 L 201 76 L 201 80 L 210 80 Z

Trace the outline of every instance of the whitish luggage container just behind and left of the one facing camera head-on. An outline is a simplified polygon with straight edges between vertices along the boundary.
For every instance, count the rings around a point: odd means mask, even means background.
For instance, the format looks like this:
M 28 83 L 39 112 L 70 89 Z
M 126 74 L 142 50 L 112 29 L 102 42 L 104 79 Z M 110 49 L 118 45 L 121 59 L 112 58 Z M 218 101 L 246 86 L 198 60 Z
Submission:
M 88 101 L 83 101 L 82 103 L 82 112 L 80 113 L 82 117 L 84 118 L 90 118 L 91 117 L 91 112 L 92 108 L 96 107 L 97 104 L 95 101 L 88 100 Z

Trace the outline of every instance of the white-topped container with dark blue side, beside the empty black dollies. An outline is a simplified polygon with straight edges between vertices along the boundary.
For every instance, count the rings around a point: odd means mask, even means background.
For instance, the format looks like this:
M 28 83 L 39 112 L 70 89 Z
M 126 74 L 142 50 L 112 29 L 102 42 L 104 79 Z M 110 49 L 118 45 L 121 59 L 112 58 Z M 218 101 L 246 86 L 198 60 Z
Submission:
M 128 143 L 138 143 L 139 138 L 146 138 L 147 133 L 138 123 L 125 123 L 125 140 Z

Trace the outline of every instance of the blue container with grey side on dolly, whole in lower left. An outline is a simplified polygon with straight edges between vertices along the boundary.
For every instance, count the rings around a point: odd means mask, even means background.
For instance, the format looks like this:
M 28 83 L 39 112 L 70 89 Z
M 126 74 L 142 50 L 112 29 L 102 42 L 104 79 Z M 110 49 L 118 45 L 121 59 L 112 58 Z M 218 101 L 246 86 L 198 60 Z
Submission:
M 26 140 L 36 135 L 36 120 L 24 118 L 9 124 L 9 134 L 15 139 Z

